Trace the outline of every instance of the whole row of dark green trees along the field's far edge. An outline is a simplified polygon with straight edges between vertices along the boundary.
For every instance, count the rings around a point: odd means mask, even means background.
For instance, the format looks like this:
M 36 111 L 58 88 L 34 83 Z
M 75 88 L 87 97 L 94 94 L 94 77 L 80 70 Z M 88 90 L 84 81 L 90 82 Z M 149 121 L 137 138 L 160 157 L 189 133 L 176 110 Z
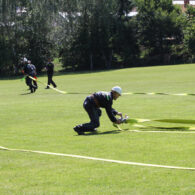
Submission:
M 0 0 L 0 74 L 26 57 L 41 72 L 195 61 L 195 8 L 172 0 Z M 131 16 L 136 9 L 137 15 Z

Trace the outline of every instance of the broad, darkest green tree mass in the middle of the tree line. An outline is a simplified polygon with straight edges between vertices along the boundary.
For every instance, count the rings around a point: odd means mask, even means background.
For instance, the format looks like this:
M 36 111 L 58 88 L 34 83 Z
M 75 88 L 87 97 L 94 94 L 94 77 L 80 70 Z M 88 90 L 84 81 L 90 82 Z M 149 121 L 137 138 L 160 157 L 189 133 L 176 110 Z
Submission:
M 65 67 L 109 69 L 113 67 L 114 56 L 124 57 L 121 63 L 128 64 L 129 60 L 131 63 L 138 53 L 135 30 L 127 15 L 131 9 L 128 0 L 82 1 L 71 44 L 68 49 L 66 44 L 63 50 Z

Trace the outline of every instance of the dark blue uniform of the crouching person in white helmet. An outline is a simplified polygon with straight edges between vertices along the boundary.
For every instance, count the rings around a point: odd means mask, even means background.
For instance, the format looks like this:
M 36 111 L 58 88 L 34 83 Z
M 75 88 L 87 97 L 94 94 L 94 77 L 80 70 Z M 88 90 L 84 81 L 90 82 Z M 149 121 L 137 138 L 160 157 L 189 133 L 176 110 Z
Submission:
M 116 122 L 117 119 L 115 115 L 118 113 L 115 109 L 112 108 L 113 104 L 113 94 L 112 92 L 96 92 L 88 96 L 84 103 L 83 107 L 89 115 L 90 122 L 82 125 L 78 125 L 74 130 L 78 134 L 83 134 L 83 132 L 94 131 L 95 128 L 100 126 L 99 117 L 101 116 L 100 108 L 105 108 L 106 113 L 112 122 Z

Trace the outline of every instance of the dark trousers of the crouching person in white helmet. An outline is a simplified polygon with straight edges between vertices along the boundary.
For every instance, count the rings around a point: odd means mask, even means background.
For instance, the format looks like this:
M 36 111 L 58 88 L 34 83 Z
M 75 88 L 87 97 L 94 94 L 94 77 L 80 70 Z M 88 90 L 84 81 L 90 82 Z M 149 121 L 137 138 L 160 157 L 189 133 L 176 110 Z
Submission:
M 101 116 L 101 110 L 96 107 L 95 103 L 91 100 L 90 97 L 85 99 L 83 107 L 89 115 L 90 122 L 79 125 L 80 130 L 83 132 L 93 131 L 95 128 L 100 126 L 99 118 Z

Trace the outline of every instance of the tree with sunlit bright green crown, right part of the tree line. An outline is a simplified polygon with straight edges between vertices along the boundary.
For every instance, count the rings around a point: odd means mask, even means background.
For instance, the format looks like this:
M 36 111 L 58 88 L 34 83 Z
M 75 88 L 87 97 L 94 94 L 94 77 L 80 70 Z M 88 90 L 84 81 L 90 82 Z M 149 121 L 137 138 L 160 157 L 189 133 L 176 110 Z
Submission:
M 170 56 L 172 45 L 182 41 L 182 25 L 178 22 L 181 11 L 171 0 L 139 0 L 137 5 L 139 42 L 144 47 L 145 57 L 154 59 L 149 63 L 169 63 L 165 62 L 165 56 Z

